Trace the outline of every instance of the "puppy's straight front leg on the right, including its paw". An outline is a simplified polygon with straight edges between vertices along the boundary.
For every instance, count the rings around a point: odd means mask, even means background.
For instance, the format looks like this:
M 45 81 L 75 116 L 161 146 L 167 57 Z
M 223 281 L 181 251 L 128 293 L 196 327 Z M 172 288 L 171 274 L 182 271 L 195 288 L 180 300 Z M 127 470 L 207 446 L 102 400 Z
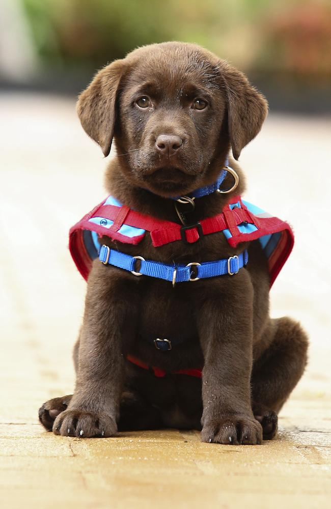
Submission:
M 248 289 L 244 285 L 244 291 L 237 286 L 239 291 L 231 292 L 230 299 L 213 295 L 199 313 L 204 353 L 201 438 L 222 444 L 259 444 L 262 428 L 252 413 L 250 389 L 253 298 L 250 285 Z

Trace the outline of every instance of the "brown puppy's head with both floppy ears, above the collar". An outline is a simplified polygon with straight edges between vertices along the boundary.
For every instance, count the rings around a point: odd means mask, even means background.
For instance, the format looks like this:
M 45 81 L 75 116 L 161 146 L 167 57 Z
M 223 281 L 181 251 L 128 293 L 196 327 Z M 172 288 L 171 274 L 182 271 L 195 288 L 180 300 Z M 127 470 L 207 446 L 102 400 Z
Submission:
M 105 156 L 116 141 L 132 184 L 163 196 L 215 180 L 260 131 L 267 103 L 209 51 L 178 42 L 136 49 L 99 71 L 78 99 L 82 127 Z

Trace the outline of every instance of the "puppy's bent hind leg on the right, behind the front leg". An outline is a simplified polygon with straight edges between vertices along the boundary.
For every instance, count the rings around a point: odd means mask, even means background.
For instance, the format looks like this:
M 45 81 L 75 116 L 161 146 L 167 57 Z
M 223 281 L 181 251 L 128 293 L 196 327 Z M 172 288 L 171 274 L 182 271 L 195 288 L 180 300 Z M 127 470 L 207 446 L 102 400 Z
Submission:
M 264 440 L 270 440 L 277 433 L 277 413 L 304 373 L 308 338 L 300 325 L 287 317 L 271 320 L 266 333 L 273 338 L 253 365 L 252 409 L 261 422 Z

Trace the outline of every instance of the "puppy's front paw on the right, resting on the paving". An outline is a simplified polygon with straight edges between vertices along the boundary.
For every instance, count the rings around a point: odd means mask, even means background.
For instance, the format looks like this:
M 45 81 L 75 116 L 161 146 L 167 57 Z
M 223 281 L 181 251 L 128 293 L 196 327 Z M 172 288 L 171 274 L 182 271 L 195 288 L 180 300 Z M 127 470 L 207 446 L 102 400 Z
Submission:
M 201 440 L 227 445 L 257 445 L 262 443 L 262 427 L 254 419 L 225 417 L 206 422 Z

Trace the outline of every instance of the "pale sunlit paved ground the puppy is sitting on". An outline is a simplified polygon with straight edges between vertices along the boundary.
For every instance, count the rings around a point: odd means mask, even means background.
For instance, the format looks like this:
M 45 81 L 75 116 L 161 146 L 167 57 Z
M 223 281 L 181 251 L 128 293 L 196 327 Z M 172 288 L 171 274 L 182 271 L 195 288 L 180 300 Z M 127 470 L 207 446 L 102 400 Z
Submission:
M 289 219 L 296 233 L 272 316 L 300 320 L 311 349 L 278 438 L 240 447 L 203 444 L 190 431 L 86 440 L 43 431 L 40 404 L 73 388 L 85 295 L 67 232 L 104 196 L 105 161 L 73 100 L 3 95 L 0 111 L 1 507 L 330 507 L 330 122 L 270 116 L 242 154 L 247 199 Z

